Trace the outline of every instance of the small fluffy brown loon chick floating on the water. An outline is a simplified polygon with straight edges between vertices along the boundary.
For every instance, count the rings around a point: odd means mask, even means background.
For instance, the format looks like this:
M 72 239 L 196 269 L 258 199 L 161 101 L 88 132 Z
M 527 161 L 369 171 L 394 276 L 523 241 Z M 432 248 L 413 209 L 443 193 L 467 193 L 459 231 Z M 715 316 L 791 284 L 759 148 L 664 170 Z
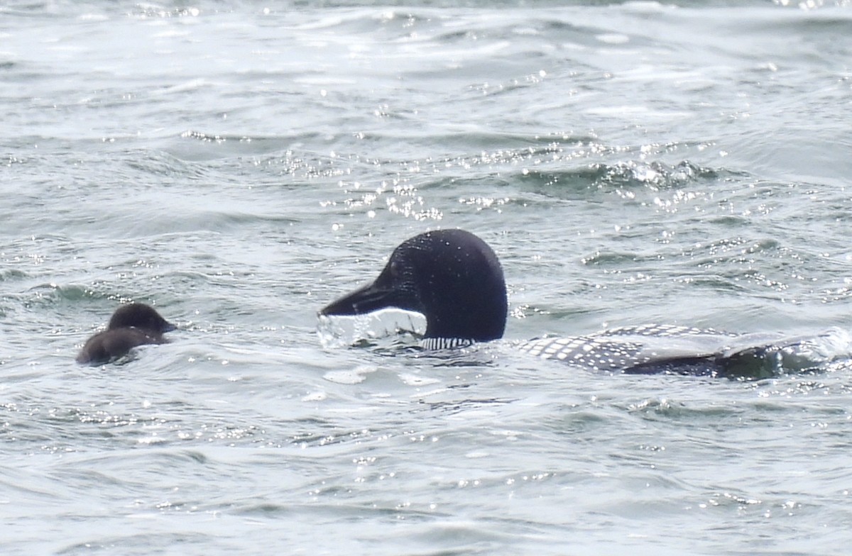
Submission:
M 108 363 L 144 344 L 164 344 L 165 332 L 176 326 L 144 303 L 128 303 L 112 313 L 107 330 L 93 335 L 77 356 L 81 364 Z

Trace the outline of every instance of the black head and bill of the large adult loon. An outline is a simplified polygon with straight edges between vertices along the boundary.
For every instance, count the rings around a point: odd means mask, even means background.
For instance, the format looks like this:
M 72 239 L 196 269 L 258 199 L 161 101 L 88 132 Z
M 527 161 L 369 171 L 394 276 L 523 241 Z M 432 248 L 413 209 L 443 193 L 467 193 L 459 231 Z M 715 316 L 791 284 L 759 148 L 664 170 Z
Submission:
M 470 232 L 437 230 L 406 240 L 371 284 L 320 315 L 396 307 L 426 317 L 425 338 L 496 340 L 506 326 L 506 283 L 494 251 Z

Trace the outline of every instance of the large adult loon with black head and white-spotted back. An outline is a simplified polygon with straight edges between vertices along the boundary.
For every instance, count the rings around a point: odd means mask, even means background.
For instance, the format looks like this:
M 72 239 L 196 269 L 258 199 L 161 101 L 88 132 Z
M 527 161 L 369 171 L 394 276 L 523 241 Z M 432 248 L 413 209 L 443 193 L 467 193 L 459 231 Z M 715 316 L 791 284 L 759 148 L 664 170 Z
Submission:
M 396 307 L 422 313 L 427 349 L 465 347 L 503 337 L 506 284 L 497 255 L 460 229 L 424 232 L 400 244 L 373 282 L 332 301 L 320 316 L 360 315 Z M 625 374 L 772 375 L 810 369 L 822 358 L 819 338 L 734 334 L 687 326 L 645 324 L 568 338 L 523 341 L 545 359 Z

